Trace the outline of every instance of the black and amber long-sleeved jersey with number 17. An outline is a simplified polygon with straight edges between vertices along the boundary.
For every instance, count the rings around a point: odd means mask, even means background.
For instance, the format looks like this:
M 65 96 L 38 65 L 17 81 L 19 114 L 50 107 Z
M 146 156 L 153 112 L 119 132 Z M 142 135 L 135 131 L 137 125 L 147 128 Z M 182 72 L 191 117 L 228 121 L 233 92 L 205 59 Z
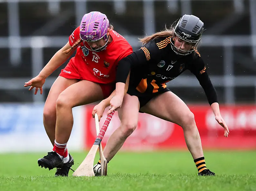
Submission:
M 217 102 L 217 94 L 206 72 L 206 67 L 197 50 L 181 56 L 171 47 L 171 37 L 158 37 L 119 62 L 117 82 L 126 81 L 129 70 L 129 89 L 135 88 L 138 95 L 154 94 L 166 88 L 166 82 L 190 70 L 204 88 L 209 104 Z

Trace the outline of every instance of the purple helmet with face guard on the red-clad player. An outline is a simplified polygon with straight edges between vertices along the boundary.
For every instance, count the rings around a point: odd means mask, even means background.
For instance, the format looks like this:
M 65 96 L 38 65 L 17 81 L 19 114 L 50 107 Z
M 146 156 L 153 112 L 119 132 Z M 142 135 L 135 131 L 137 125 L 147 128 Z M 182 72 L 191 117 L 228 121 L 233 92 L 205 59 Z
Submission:
M 109 39 L 107 35 L 108 29 L 109 20 L 105 14 L 97 11 L 89 12 L 81 20 L 80 38 L 88 50 L 100 52 L 107 47 Z M 98 44 L 101 39 L 106 41 L 104 46 Z M 96 42 L 99 48 L 95 49 L 85 42 Z

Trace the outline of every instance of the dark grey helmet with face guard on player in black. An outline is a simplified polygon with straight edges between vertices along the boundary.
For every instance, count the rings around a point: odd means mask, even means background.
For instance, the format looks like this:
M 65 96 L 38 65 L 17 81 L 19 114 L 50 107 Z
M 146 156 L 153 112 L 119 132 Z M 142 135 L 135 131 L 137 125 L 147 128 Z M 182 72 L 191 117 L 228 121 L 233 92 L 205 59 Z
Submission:
M 177 24 L 176 24 L 177 23 Z M 171 38 L 171 46 L 173 51 L 179 55 L 191 54 L 201 40 L 201 35 L 204 31 L 204 23 L 194 15 L 183 15 L 178 22 L 176 22 Z M 175 46 L 175 41 L 180 38 L 183 43 L 192 45 L 191 50 L 181 50 L 180 47 Z

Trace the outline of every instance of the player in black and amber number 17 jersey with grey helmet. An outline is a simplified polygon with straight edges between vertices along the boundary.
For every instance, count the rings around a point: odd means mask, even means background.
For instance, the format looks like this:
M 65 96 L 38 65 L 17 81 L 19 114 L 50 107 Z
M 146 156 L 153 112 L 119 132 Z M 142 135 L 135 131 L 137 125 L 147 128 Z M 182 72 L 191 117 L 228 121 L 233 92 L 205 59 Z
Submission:
M 194 114 L 166 87 L 166 82 L 175 79 L 185 70 L 190 70 L 203 87 L 215 119 L 224 128 L 224 136 L 228 136 L 229 129 L 220 114 L 216 91 L 207 74 L 204 61 L 196 49 L 203 31 L 204 23 L 198 17 L 184 15 L 171 29 L 140 39 L 144 46 L 119 61 L 116 95 L 103 100 L 92 112 L 93 115 L 97 112 L 102 116 L 102 108 L 109 103 L 109 113 L 119 109 L 121 125 L 109 137 L 104 149 L 108 161 L 136 129 L 138 112 L 145 112 L 180 125 L 184 131 L 186 145 L 198 169 L 198 175 L 214 175 L 205 165 Z M 129 71 L 129 87 L 127 94 L 124 95 Z M 96 174 L 99 167 L 99 164 L 95 165 Z

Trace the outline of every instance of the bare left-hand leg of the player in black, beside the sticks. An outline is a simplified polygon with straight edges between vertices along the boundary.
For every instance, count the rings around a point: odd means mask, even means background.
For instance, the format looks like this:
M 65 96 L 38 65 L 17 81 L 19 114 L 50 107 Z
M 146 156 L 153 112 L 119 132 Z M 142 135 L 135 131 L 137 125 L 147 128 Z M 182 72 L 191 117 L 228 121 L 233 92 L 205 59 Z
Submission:
M 127 137 L 136 129 L 138 123 L 139 101 L 136 96 L 126 94 L 122 107 L 118 110 L 121 125 L 109 137 L 104 148 L 104 156 L 110 161 L 124 144 Z

